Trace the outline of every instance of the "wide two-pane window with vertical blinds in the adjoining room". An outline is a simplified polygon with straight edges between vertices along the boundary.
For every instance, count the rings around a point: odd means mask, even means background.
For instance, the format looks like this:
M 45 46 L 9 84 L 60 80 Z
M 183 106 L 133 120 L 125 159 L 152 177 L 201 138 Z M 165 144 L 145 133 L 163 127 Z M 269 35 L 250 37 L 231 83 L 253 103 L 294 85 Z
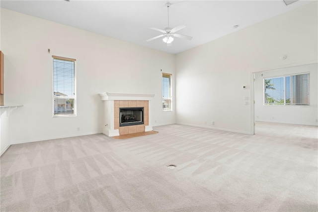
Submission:
M 264 79 L 264 105 L 309 105 L 309 74 Z

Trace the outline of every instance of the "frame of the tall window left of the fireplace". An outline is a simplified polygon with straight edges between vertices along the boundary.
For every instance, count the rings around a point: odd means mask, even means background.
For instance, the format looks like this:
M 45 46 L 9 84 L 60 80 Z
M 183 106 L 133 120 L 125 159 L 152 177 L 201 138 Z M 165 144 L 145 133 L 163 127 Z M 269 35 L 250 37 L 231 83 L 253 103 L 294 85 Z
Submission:
M 72 91 L 74 91 L 73 95 L 71 96 L 57 96 L 56 93 L 60 93 L 62 94 L 61 92 L 57 91 L 55 92 L 54 91 L 54 88 L 56 86 L 56 80 L 55 80 L 55 76 L 56 76 L 56 71 L 55 71 L 55 64 L 54 64 L 54 60 L 61 60 L 61 61 L 69 61 L 69 62 L 73 62 L 73 65 L 74 65 L 74 74 L 73 76 L 70 76 L 72 79 Z M 52 55 L 52 117 L 74 117 L 74 116 L 77 116 L 77 85 L 76 85 L 76 81 L 77 81 L 77 71 L 76 71 L 76 59 L 73 59 L 73 58 L 67 58 L 67 57 L 60 57 L 60 56 L 55 56 L 55 55 Z M 64 83 L 63 83 L 64 85 Z M 60 107 L 60 103 L 55 103 L 56 100 L 66 100 L 66 103 L 68 102 L 69 99 L 73 99 L 73 107 L 72 107 L 72 110 L 73 110 L 73 113 L 72 114 L 66 114 L 66 113 L 61 113 L 61 114 L 57 114 L 55 112 L 55 105 L 57 107 Z M 66 107 L 65 108 L 69 108 L 69 104 L 72 105 L 72 103 L 67 103 Z

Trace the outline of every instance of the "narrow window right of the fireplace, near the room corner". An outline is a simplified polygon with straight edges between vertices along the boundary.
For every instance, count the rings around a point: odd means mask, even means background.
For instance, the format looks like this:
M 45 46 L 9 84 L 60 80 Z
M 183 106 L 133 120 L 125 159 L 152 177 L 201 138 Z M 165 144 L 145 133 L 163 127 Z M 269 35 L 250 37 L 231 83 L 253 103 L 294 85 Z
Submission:
M 172 110 L 171 74 L 162 74 L 162 110 Z

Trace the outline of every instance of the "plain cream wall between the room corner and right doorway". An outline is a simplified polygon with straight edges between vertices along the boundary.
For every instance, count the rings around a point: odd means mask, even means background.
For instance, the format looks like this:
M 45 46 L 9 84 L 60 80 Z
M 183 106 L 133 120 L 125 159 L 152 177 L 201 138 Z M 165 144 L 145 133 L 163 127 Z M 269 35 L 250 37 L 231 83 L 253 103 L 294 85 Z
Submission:
M 251 73 L 317 62 L 317 8 L 315 1 L 177 54 L 177 123 L 252 133 Z

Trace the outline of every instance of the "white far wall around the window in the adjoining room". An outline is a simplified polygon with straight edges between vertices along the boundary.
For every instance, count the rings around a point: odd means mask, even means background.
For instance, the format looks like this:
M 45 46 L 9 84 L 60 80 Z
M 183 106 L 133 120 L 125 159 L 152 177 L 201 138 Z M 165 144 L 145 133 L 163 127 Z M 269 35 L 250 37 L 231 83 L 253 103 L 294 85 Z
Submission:
M 318 66 L 317 63 L 255 73 L 255 120 L 278 123 L 318 125 Z M 264 78 L 310 73 L 309 106 L 264 106 Z

